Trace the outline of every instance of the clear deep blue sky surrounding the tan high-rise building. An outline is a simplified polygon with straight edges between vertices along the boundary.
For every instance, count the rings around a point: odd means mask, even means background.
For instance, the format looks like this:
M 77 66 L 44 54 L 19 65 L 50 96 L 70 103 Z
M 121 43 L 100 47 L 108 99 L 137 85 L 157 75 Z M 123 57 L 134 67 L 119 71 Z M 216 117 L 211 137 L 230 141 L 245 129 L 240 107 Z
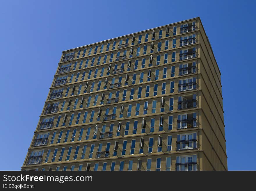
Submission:
M 1 1 L 0 170 L 20 170 L 63 50 L 198 16 L 222 74 L 228 169 L 256 170 L 255 5 Z

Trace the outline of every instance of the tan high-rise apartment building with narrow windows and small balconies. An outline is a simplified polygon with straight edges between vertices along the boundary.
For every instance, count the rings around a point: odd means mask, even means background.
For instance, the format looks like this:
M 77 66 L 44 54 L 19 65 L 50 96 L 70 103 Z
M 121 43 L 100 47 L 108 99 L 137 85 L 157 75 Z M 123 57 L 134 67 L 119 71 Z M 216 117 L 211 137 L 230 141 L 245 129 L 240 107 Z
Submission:
M 227 170 L 199 17 L 63 51 L 22 170 Z

